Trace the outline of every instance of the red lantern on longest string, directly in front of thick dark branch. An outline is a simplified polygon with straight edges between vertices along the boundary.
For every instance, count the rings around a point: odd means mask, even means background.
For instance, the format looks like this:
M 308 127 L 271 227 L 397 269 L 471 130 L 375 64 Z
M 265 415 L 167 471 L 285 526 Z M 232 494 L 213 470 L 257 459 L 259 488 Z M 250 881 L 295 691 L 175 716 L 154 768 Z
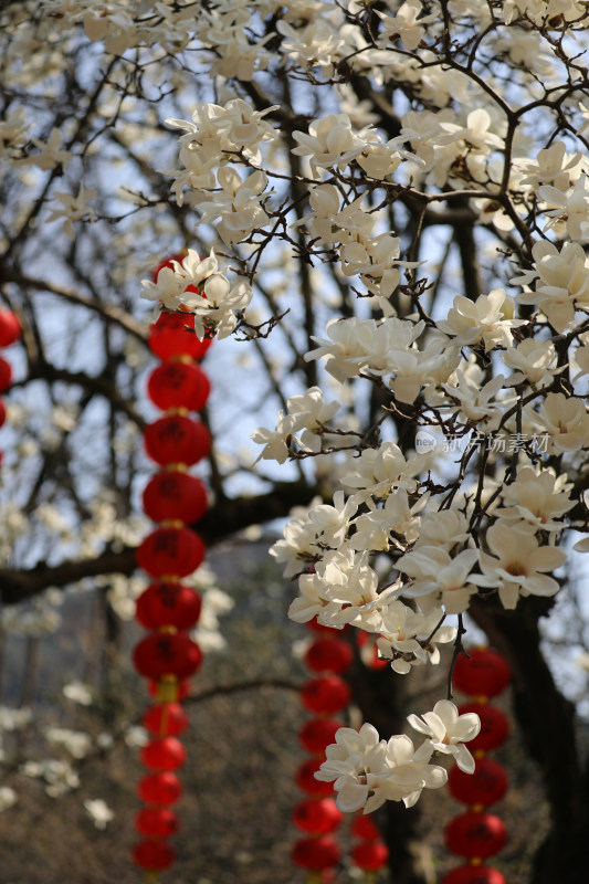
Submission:
M 139 568 L 151 577 L 186 577 L 204 559 L 204 544 L 189 528 L 157 528 L 135 551 Z

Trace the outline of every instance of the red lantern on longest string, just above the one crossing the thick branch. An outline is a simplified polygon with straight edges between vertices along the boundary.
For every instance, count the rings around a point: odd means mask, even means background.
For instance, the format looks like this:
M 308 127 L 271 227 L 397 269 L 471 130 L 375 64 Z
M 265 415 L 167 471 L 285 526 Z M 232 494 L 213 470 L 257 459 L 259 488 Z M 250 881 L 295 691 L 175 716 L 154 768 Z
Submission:
M 187 525 L 198 522 L 207 512 L 207 490 L 200 478 L 177 470 L 166 470 L 147 484 L 144 513 L 154 522 L 179 519 Z

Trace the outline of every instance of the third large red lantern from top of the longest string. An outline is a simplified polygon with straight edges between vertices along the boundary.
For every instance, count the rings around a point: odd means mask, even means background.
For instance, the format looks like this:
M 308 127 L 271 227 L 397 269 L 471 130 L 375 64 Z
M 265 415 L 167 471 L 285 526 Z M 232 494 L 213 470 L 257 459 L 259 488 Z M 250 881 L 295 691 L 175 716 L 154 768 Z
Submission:
M 144 444 L 147 454 L 161 466 L 178 463 L 191 466 L 207 456 L 211 436 L 200 421 L 170 414 L 145 428 Z

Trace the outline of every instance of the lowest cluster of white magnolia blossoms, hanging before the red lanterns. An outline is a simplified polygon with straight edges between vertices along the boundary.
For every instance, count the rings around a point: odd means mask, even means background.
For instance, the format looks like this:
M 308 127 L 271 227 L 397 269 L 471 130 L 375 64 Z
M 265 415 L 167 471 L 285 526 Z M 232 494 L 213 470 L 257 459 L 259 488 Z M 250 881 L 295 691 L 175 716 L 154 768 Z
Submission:
M 474 758 L 464 744 L 481 729 L 477 715 L 459 715 L 453 703 L 442 699 L 432 712 L 421 718 L 410 715 L 408 720 L 427 737 L 417 749 L 404 735 L 388 741 L 379 739 L 370 724 L 362 725 L 359 732 L 339 728 L 315 775 L 318 780 L 334 783 L 339 810 L 349 813 L 362 808 L 370 813 L 387 800 L 412 807 L 423 789 L 439 789 L 446 782 L 445 769 L 430 764 L 434 754 L 451 755 L 461 770 L 474 771 Z

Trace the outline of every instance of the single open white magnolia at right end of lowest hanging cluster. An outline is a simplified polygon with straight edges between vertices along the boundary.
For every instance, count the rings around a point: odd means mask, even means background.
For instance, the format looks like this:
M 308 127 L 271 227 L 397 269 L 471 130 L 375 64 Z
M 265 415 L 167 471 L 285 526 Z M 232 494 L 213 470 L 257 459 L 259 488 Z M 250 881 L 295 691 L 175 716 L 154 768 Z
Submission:
M 481 719 L 475 713 L 459 715 L 453 703 L 440 699 L 433 712 L 427 712 L 421 718 L 409 715 L 407 720 L 414 730 L 430 737 L 435 751 L 453 755 L 461 770 L 474 772 L 474 758 L 464 743 L 474 739 L 481 730 Z

